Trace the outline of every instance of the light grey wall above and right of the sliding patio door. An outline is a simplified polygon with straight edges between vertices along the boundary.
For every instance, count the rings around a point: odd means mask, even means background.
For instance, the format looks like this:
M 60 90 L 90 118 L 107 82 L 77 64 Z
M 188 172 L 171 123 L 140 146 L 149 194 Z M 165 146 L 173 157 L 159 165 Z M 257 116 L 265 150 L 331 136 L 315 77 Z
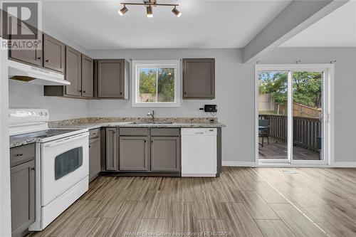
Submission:
M 277 48 L 261 63 L 335 63 L 335 162 L 356 164 L 356 48 Z

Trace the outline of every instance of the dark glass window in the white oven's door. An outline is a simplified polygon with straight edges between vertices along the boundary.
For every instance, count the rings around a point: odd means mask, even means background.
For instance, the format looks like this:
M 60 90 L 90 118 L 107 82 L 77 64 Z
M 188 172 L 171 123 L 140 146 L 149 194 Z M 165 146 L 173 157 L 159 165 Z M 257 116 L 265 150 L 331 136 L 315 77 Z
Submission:
M 75 171 L 83 164 L 83 147 L 70 149 L 68 152 L 60 154 L 56 157 L 54 162 L 55 179 Z

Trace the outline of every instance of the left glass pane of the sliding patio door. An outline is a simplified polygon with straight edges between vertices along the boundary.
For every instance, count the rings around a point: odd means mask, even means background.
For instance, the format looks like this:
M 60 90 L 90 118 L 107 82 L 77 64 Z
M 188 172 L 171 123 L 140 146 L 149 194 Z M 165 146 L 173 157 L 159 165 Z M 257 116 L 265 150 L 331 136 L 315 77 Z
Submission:
M 288 159 L 288 72 L 258 74 L 258 158 Z

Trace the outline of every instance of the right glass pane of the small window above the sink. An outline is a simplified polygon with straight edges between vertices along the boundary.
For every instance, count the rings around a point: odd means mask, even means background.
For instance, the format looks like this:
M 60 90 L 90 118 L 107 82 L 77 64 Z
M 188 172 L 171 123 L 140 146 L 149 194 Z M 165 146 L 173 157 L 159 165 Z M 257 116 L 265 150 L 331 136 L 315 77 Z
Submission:
M 159 68 L 157 81 L 157 101 L 174 102 L 174 68 Z

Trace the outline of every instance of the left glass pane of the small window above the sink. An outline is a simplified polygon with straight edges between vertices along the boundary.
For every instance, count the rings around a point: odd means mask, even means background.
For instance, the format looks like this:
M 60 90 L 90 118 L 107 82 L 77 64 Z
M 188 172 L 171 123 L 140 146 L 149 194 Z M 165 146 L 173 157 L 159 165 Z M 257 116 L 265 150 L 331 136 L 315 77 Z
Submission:
M 138 102 L 157 102 L 156 79 L 156 68 L 140 68 Z

